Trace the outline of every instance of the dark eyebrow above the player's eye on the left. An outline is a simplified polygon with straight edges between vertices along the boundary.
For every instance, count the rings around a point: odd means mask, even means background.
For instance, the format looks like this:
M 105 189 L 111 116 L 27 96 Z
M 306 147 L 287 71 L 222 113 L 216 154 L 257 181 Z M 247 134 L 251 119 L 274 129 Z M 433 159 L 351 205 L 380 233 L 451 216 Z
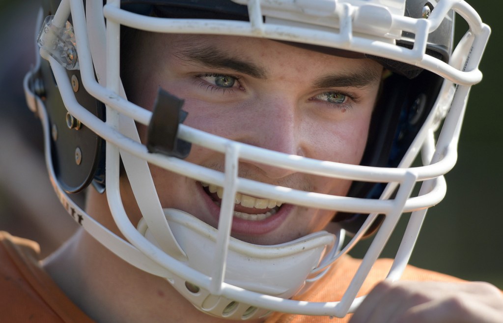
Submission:
M 226 55 L 226 53 L 211 45 L 202 48 L 196 47 L 179 50 L 175 53 L 175 56 L 188 63 L 197 62 L 212 68 L 232 69 L 255 78 L 267 78 L 267 72 L 264 67 Z

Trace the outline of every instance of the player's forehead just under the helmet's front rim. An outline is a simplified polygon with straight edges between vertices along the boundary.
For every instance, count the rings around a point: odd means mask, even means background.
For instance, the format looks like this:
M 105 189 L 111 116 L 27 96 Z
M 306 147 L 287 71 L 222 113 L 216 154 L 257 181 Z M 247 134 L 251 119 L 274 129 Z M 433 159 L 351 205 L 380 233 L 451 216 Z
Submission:
M 367 58 L 325 54 L 264 38 L 182 34 L 153 34 L 153 37 L 147 48 L 153 44 L 155 48 L 150 49 L 157 53 L 171 55 L 188 64 L 208 65 L 227 59 L 232 67 L 234 60 L 249 62 L 261 67 L 261 75 L 253 75 L 257 77 L 264 77 L 275 69 L 283 68 L 303 71 L 338 70 L 342 73 L 367 70 L 372 74 L 380 74 L 382 70 L 379 63 Z

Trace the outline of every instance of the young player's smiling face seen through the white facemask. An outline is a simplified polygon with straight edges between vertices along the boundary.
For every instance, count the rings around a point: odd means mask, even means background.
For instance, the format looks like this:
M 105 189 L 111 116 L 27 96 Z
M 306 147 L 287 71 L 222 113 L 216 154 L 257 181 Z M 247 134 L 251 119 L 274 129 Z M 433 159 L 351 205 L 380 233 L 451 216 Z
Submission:
M 284 153 L 360 163 L 381 81 L 378 63 L 246 37 L 139 38 L 142 50 L 132 60 L 137 68 L 127 77 L 131 101 L 152 107 L 161 87 L 185 99 L 188 126 Z M 221 153 L 197 145 L 186 160 L 224 168 Z M 218 188 L 157 167 L 151 170 L 163 207 L 217 226 L 220 199 L 212 192 Z M 351 184 L 249 161 L 240 162 L 239 176 L 341 196 Z M 238 199 L 232 236 L 255 244 L 283 243 L 320 230 L 334 214 L 244 195 Z

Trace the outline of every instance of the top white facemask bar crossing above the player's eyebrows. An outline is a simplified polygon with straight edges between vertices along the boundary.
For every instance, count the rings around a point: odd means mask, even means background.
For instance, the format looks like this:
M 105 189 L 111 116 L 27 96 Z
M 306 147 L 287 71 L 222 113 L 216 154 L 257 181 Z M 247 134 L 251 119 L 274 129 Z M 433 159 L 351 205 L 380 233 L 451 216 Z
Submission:
M 103 8 L 103 13 L 106 19 L 115 21 L 121 25 L 145 31 L 155 31 L 161 33 L 187 33 L 187 34 L 226 34 L 234 36 L 249 36 L 249 37 L 264 37 L 269 39 L 298 42 L 299 39 L 305 40 L 308 44 L 346 49 L 349 51 L 369 52 L 369 49 L 378 47 L 379 56 L 415 64 L 418 67 L 434 71 L 440 76 L 451 80 L 451 82 L 459 85 L 473 85 L 480 82 L 482 78 L 481 72 L 475 67 L 473 69 L 459 70 L 426 54 L 426 45 L 428 34 L 439 27 L 444 17 L 450 10 L 458 12 L 472 28 L 471 32 L 480 38 L 480 44 L 484 44 L 485 36 L 488 36 L 490 30 L 487 25 L 483 24 L 480 17 L 474 10 L 464 2 L 456 0 L 444 0 L 439 2 L 437 7 L 428 19 L 414 19 L 398 15 L 383 15 L 381 22 L 383 25 L 390 25 L 390 28 L 396 28 L 402 31 L 414 33 L 414 47 L 408 49 L 401 46 L 396 46 L 390 43 L 387 34 L 382 37 L 373 39 L 362 38 L 353 30 L 352 13 L 355 12 L 355 7 L 348 3 L 338 3 L 333 16 L 334 19 L 341 21 L 340 29 L 317 30 L 313 33 L 311 29 L 294 27 L 291 25 L 282 26 L 276 24 L 267 24 L 262 22 L 263 16 L 268 16 L 267 10 L 262 11 L 261 6 L 257 4 L 259 1 L 250 1 L 248 10 L 250 11 L 250 22 L 240 21 L 222 21 L 222 20 L 207 20 L 207 19 L 170 19 L 146 17 L 138 14 L 133 14 L 113 6 L 113 2 L 109 2 Z M 283 3 L 283 2 L 278 2 Z M 289 3 L 284 1 L 285 4 Z M 374 6 L 372 6 L 374 7 Z M 382 8 L 382 7 L 380 7 Z M 375 8 L 372 8 L 375 9 Z M 364 19 L 365 17 L 362 17 Z M 377 19 L 377 18 L 376 18 Z M 208 28 L 210 23 L 214 23 L 213 28 Z M 311 27 L 316 27 L 311 25 Z M 292 36 L 295 35 L 295 36 Z M 475 45 L 478 41 L 475 41 Z M 484 47 L 484 46 L 482 46 Z M 473 55 L 471 59 L 477 61 L 478 65 L 480 56 Z

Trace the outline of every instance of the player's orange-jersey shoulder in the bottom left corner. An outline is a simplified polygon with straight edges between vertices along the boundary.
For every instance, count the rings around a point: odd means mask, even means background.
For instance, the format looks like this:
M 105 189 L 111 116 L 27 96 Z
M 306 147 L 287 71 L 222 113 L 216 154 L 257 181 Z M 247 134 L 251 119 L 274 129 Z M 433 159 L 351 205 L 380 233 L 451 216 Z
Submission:
M 0 231 L 0 312 L 8 322 L 93 323 L 39 262 L 39 246 Z

